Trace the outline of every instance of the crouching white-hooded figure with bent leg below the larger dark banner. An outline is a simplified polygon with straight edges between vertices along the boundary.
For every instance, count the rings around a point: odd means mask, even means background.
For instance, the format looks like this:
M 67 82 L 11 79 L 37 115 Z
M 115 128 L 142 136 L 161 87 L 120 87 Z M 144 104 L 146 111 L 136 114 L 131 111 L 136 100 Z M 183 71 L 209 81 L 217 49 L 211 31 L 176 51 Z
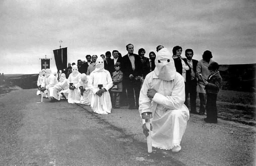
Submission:
M 60 82 L 49 88 L 50 99 L 53 100 L 53 97 L 57 100 L 61 100 L 62 97 L 66 98 L 69 91 L 69 82 L 66 79 L 64 73 L 60 76 Z M 65 94 L 64 94 L 65 93 Z

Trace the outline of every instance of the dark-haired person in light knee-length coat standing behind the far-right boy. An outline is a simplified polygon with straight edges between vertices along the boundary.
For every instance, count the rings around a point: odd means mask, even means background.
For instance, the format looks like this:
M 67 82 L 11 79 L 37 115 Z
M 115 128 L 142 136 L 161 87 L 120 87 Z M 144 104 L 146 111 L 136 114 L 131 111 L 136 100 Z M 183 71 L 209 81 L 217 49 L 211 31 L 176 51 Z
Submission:
M 197 87 L 196 91 L 199 94 L 200 99 L 200 109 L 199 114 L 204 115 L 205 107 L 206 107 L 206 91 L 204 89 L 204 82 L 207 80 L 209 75 L 211 74 L 208 70 L 208 66 L 210 63 L 214 62 L 211 60 L 212 54 L 211 51 L 206 50 L 203 52 L 202 59 L 198 61 L 196 66 L 196 77 L 197 77 Z

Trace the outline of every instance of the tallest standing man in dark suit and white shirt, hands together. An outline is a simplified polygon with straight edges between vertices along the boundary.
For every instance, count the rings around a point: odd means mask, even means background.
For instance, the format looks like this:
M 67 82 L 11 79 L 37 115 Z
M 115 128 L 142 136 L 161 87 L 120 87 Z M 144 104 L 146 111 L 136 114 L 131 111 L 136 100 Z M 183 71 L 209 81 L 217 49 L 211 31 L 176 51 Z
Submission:
M 133 44 L 127 44 L 126 50 L 128 51 L 128 54 L 123 56 L 123 65 L 121 67 L 124 74 L 123 83 L 125 84 L 125 88 L 127 90 L 129 109 L 138 109 L 142 81 L 141 59 L 139 55 L 133 53 Z M 136 105 L 134 101 L 134 92 Z

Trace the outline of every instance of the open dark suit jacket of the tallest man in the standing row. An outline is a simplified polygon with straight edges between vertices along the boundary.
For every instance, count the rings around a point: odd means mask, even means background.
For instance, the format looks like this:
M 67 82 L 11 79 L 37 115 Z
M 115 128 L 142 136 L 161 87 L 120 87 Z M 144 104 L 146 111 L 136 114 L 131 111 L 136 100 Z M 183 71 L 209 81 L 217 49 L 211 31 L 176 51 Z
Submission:
M 137 54 L 134 55 L 134 64 L 135 64 L 135 70 L 132 70 L 132 63 L 129 59 L 128 54 L 123 56 L 123 65 L 122 65 L 122 71 L 124 74 L 124 77 L 129 78 L 130 74 L 132 74 L 134 77 L 141 76 L 142 77 L 142 64 L 141 64 L 141 58 Z

